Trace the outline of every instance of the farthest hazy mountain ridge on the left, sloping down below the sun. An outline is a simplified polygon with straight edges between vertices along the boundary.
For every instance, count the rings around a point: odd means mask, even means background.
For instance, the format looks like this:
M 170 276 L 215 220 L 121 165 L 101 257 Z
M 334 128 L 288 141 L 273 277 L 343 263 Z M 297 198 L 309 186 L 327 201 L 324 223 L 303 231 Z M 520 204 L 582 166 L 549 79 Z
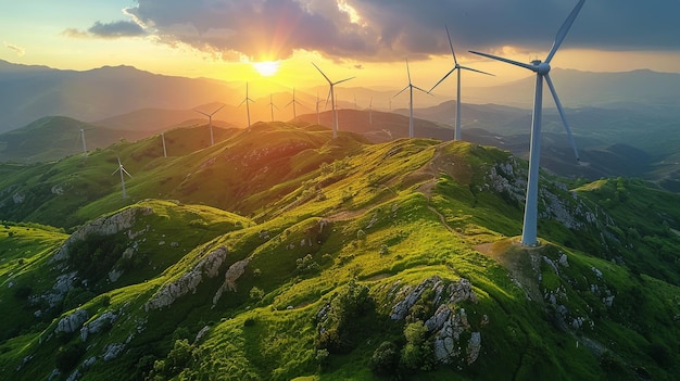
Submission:
M 225 82 L 130 66 L 76 72 L 0 62 L 0 131 L 50 115 L 93 122 L 148 107 L 184 110 L 214 101 L 240 102 L 231 97 L 236 93 Z

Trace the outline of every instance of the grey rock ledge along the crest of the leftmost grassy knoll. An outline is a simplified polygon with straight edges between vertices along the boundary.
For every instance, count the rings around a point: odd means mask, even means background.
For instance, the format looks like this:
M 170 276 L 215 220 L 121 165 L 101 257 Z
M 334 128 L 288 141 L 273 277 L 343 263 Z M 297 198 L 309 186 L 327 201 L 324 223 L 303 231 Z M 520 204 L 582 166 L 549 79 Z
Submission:
M 71 234 L 66 242 L 64 242 L 59 251 L 52 256 L 50 262 L 53 263 L 59 261 L 65 261 L 66 258 L 68 258 L 68 250 L 71 245 L 74 242 L 83 241 L 86 237 L 90 234 L 113 236 L 122 231 L 127 231 L 127 234 L 131 240 L 140 233 L 134 232 L 131 230 L 137 216 L 150 214 L 153 214 L 153 209 L 151 207 L 133 206 L 116 214 L 97 218 L 96 220 L 85 225 L 76 232 Z M 146 229 L 142 230 L 142 232 L 143 231 L 146 231 Z

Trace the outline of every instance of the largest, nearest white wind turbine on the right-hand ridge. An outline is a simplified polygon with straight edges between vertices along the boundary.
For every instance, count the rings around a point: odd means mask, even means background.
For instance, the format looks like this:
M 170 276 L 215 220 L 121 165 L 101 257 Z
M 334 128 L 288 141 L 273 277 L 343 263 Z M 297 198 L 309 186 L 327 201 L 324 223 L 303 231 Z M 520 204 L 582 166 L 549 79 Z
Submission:
M 567 136 L 569 138 L 569 142 L 574 148 L 574 153 L 576 155 L 576 160 L 579 160 L 579 154 L 576 149 L 576 144 L 574 143 L 574 137 L 571 136 L 571 129 L 567 124 L 567 118 L 565 116 L 564 110 L 562 107 L 562 103 L 559 102 L 559 98 L 557 97 L 557 92 L 555 91 L 555 87 L 553 86 L 552 79 L 550 79 L 550 63 L 555 56 L 557 49 L 564 41 L 569 28 L 574 24 L 577 15 L 579 14 L 581 8 L 585 0 L 580 0 L 574 11 L 569 14 L 567 20 L 564 22 L 559 30 L 557 31 L 557 36 L 555 37 L 555 42 L 553 43 L 550 53 L 547 53 L 547 58 L 544 62 L 540 60 L 534 60 L 530 64 L 503 59 L 500 56 L 474 52 L 471 53 L 479 54 L 482 56 L 487 56 L 493 60 L 502 61 L 505 63 L 509 63 L 519 67 L 524 67 L 530 69 L 536 73 L 536 93 L 533 97 L 533 118 L 531 122 L 531 145 L 529 149 L 529 179 L 527 180 L 527 200 L 525 203 L 525 215 L 524 215 L 524 226 L 521 230 L 521 243 L 527 246 L 537 245 L 537 219 L 538 219 L 538 193 L 539 193 L 539 158 L 541 151 L 541 119 L 543 112 L 543 79 L 547 82 L 547 87 L 555 100 L 555 105 L 557 105 L 557 111 L 559 112 L 559 116 L 567 131 Z

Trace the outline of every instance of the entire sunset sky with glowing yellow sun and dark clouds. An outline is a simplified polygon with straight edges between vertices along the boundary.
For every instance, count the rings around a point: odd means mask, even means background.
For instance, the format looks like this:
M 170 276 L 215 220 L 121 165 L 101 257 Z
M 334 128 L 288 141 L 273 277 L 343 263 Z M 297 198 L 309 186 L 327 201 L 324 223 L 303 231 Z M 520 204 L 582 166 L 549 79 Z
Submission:
M 429 88 L 453 65 L 493 86 L 529 73 L 467 52 L 543 59 L 576 0 L 0 0 L 0 60 L 61 69 L 104 65 L 227 81 L 263 75 L 290 87 Z M 680 2 L 588 0 L 553 67 L 680 72 Z M 272 61 L 256 67 L 254 63 Z M 259 72 L 260 69 L 260 72 Z M 466 73 L 467 74 L 467 73 Z M 453 81 L 452 81 L 453 82 Z M 350 82 L 348 82 L 349 85 Z

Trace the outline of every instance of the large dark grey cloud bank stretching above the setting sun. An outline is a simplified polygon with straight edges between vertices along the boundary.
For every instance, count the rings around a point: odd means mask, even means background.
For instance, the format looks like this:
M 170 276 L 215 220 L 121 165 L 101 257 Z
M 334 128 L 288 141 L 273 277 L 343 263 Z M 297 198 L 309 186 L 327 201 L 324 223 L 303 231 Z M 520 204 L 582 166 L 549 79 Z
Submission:
M 330 58 L 392 61 L 513 46 L 550 49 L 576 0 L 138 0 L 126 10 L 166 43 L 282 59 L 294 49 Z M 352 17 L 348 5 L 358 18 Z M 566 45 L 604 50 L 680 50 L 680 2 L 589 0 Z M 97 26 L 97 25 L 96 25 Z M 113 24 L 99 25 L 114 31 Z M 121 25 L 124 26 L 124 25 Z M 111 30 L 106 30 L 110 27 Z M 95 27 L 92 27 L 95 28 Z M 95 33 L 92 29 L 90 31 Z

